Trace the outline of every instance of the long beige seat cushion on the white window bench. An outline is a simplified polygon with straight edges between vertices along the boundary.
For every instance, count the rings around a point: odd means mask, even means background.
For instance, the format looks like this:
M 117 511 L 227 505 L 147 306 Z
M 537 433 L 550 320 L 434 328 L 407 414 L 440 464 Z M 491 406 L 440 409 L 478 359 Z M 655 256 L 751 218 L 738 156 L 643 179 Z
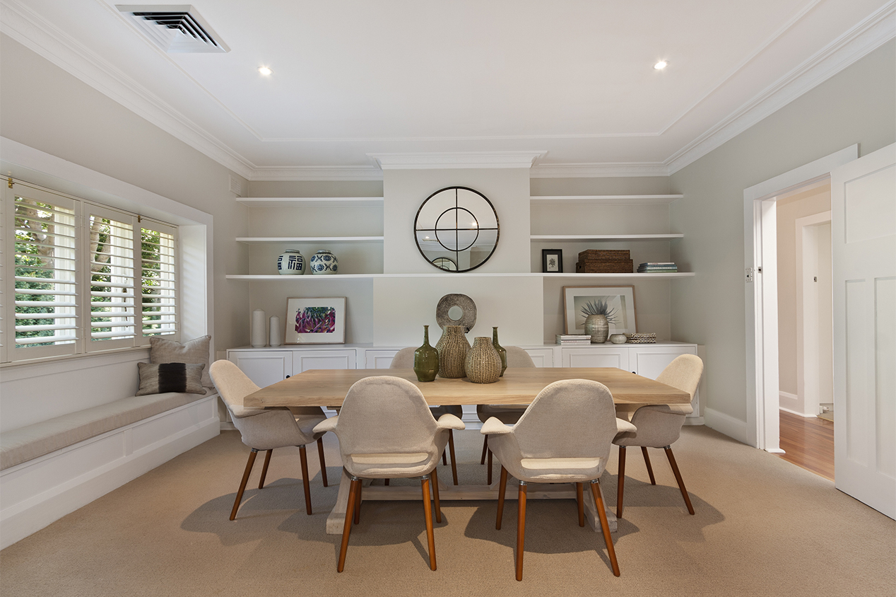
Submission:
M 131 396 L 5 431 L 0 436 L 0 471 L 138 420 L 148 419 L 160 412 L 201 400 L 210 394 L 213 393 L 170 392 Z

